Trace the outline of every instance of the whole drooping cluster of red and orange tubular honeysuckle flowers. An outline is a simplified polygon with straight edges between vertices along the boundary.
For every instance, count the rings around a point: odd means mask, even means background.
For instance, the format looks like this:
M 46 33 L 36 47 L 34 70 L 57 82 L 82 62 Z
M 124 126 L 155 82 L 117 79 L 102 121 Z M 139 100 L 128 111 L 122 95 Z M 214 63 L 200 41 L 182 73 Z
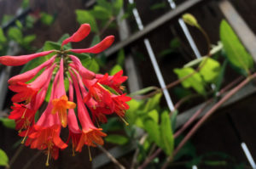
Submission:
M 9 89 L 15 92 L 9 119 L 15 120 L 19 135 L 24 137 L 22 143 L 32 149 L 42 149 L 46 152 L 46 166 L 49 166 L 49 157 L 57 159 L 59 149 L 67 148 L 69 140 L 72 140 L 73 153 L 80 152 L 84 144 L 88 149 L 96 144 L 102 145 L 102 137 L 107 134 L 102 132 L 102 128 L 96 127 L 95 123 L 107 122 L 106 115 L 113 113 L 124 120 L 125 110 L 129 109 L 126 102 L 131 98 L 122 92 L 124 87 L 121 84 L 127 79 L 122 70 L 113 76 L 108 76 L 108 73 L 96 74 L 84 68 L 79 58 L 71 54 L 101 53 L 113 43 L 113 36 L 104 38 L 91 48 L 63 49 L 68 42 L 80 42 L 89 32 L 90 25 L 81 25 L 73 36 L 62 42 L 60 50 L 0 57 L 1 64 L 16 66 L 55 53 L 42 65 L 13 76 L 8 81 Z M 65 90 L 65 78 L 69 82 L 68 93 Z M 35 115 L 44 103 L 48 90 L 49 103 L 38 121 L 35 121 Z M 68 127 L 67 142 L 62 141 L 60 137 L 61 127 Z

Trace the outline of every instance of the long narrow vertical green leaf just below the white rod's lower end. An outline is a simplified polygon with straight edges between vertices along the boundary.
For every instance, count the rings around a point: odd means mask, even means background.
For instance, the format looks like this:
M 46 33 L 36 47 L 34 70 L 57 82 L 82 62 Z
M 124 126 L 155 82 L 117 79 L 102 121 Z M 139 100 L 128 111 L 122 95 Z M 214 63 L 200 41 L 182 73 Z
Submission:
M 167 112 L 163 112 L 161 114 L 160 138 L 160 147 L 165 151 L 166 155 L 172 155 L 174 138 L 172 133 L 172 124 Z

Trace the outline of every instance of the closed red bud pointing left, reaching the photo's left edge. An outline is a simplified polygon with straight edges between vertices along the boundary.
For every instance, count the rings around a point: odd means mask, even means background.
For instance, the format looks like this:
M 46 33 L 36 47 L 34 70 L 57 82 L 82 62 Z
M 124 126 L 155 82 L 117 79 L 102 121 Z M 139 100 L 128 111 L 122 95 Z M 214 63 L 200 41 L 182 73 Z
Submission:
M 28 54 L 28 55 L 21 55 L 21 56 L 2 56 L 0 57 L 0 64 L 3 65 L 24 65 L 32 59 L 45 56 L 47 54 L 53 53 L 54 50 L 49 50 L 45 52 L 41 52 L 38 54 Z

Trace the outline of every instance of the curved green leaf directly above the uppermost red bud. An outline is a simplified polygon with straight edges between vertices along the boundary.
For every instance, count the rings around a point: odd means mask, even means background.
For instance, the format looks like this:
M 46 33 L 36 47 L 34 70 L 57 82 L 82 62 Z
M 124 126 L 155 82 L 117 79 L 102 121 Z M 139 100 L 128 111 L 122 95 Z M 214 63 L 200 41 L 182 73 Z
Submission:
M 77 9 L 77 21 L 79 24 L 88 23 L 90 24 L 91 31 L 98 32 L 98 27 L 96 25 L 96 20 L 92 14 L 90 14 L 89 11 Z

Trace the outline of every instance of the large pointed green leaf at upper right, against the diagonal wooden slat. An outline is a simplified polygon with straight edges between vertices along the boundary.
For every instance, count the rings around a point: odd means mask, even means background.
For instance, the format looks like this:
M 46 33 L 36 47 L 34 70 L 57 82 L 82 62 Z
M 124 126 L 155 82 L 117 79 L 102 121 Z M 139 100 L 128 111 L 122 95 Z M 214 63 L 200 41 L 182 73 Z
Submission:
M 227 21 L 222 20 L 220 24 L 220 39 L 224 45 L 224 51 L 232 65 L 246 70 L 253 68 L 253 58 L 241 44 L 236 33 L 232 30 Z

